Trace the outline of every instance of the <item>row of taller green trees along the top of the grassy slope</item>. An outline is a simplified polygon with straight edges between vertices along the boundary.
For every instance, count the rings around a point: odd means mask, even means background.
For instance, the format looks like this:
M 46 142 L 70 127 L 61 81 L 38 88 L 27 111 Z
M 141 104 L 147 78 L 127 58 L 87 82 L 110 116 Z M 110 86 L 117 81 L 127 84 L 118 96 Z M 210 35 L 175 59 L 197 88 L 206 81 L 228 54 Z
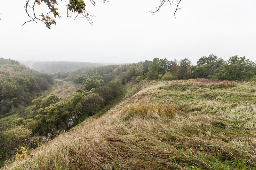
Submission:
M 188 58 L 168 61 L 155 58 L 148 67 L 151 79 L 177 80 L 208 78 L 218 80 L 250 80 L 256 75 L 256 65 L 245 57 L 232 56 L 228 61 L 216 55 L 201 57 L 197 65 L 192 65 Z

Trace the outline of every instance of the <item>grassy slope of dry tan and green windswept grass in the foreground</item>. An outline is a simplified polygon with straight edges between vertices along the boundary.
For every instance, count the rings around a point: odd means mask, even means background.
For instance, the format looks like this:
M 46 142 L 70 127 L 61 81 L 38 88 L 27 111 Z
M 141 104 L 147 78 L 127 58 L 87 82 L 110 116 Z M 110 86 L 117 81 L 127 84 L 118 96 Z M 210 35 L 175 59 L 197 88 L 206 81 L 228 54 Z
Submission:
M 4 169 L 255 169 L 250 83 L 146 81 Z

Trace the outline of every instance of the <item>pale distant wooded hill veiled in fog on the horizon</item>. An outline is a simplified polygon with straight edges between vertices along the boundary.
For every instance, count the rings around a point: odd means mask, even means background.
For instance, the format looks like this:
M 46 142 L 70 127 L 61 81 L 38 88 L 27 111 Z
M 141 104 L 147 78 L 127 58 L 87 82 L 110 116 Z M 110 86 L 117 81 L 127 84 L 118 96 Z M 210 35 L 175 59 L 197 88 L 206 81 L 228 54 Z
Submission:
M 95 67 L 112 65 L 116 63 L 88 63 L 88 62 L 68 62 L 68 61 L 20 61 L 31 69 L 44 72 L 72 72 L 82 67 Z

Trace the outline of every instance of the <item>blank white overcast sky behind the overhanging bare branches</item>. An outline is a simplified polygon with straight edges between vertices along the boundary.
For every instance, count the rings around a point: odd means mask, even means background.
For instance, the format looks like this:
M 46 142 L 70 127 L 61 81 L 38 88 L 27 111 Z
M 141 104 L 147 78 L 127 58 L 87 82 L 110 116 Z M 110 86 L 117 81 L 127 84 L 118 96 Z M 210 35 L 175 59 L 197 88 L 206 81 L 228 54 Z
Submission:
M 159 0 L 95 0 L 96 7 L 85 0 L 96 15 L 93 26 L 86 19 L 67 18 L 65 1 L 60 1 L 63 17 L 50 30 L 40 22 L 22 26 L 29 19 L 25 2 L 15 0 L 10 6 L 0 0 L 0 57 L 107 63 L 187 57 L 196 64 L 213 53 L 224 60 L 238 55 L 256 61 L 255 0 L 182 0 L 177 19 L 170 5 L 149 12 Z

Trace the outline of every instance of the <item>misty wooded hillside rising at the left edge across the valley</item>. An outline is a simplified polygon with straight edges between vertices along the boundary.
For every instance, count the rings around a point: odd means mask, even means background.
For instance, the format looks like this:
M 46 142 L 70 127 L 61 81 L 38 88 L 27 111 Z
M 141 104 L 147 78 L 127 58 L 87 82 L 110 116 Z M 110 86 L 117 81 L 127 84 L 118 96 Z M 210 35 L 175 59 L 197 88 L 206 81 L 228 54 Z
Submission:
M 52 76 L 30 70 L 21 63 L 0 58 L 0 115 L 28 104 L 53 84 Z

